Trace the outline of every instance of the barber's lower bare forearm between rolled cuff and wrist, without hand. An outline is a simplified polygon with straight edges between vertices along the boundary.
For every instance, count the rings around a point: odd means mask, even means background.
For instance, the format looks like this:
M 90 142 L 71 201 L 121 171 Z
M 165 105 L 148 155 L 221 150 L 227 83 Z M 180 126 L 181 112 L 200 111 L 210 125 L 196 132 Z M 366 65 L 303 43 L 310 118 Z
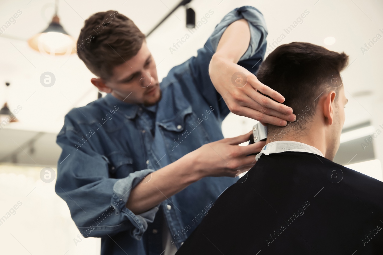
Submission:
M 147 175 L 129 195 L 126 208 L 143 213 L 201 179 L 192 160 L 185 156 Z

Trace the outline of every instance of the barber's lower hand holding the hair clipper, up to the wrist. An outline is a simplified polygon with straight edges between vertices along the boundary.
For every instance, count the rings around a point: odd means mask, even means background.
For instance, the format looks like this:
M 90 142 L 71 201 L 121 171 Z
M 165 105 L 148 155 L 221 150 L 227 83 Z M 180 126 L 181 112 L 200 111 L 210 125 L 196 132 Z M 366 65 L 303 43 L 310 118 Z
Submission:
M 249 141 L 251 133 L 207 143 L 186 154 L 183 160 L 194 162 L 193 167 L 199 179 L 207 176 L 236 177 L 255 165 L 255 155 L 246 155 L 258 153 L 265 146 L 265 141 L 246 146 L 239 145 Z

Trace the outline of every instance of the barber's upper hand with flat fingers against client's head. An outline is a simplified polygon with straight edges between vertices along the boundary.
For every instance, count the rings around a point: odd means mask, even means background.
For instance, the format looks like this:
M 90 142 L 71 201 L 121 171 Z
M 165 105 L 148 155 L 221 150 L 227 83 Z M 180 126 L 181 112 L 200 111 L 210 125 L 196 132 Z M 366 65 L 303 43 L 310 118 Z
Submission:
M 280 93 L 262 84 L 246 68 L 225 57 L 213 55 L 209 74 L 214 87 L 223 96 L 223 100 L 232 113 L 277 126 L 285 126 L 286 120 L 296 119 L 292 114 L 293 109 L 278 103 L 285 101 Z

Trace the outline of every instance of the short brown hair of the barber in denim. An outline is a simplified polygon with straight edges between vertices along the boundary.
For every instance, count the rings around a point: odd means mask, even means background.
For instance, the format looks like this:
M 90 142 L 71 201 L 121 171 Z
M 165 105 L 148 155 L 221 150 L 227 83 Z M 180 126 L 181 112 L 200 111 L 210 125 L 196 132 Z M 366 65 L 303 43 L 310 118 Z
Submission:
M 108 80 L 113 68 L 134 57 L 145 35 L 118 11 L 103 11 L 85 20 L 77 40 L 77 54 L 95 75 Z

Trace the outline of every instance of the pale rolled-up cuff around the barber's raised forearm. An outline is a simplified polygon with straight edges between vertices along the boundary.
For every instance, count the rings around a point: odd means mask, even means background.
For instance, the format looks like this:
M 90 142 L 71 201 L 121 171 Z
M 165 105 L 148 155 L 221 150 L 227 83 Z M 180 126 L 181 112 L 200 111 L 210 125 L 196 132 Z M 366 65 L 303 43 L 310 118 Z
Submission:
M 226 16 L 224 16 L 221 22 L 216 26 L 209 40 L 211 46 L 213 47 L 213 51 L 216 52 L 218 42 L 221 39 L 223 32 L 231 23 L 239 19 L 246 19 L 250 28 L 249 47 L 239 59 L 239 61 L 241 61 L 252 57 L 261 49 L 262 45 L 266 43 L 266 37 L 268 33 L 266 22 L 264 16 L 257 8 L 253 6 L 242 6 L 232 10 Z M 241 38 L 239 38 L 239 40 L 240 39 Z

